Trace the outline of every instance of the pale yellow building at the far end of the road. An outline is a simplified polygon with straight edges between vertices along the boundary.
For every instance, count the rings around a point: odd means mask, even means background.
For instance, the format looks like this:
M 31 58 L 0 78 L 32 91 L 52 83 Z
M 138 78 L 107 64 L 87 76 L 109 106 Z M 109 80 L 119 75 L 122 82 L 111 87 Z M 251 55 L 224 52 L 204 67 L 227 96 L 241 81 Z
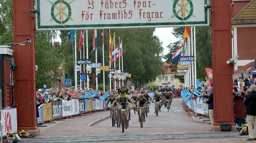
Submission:
M 159 75 L 156 77 L 156 80 L 154 81 L 155 85 L 158 85 L 161 87 L 172 87 L 174 85 L 174 88 L 182 88 L 184 87 L 184 84 L 179 82 L 178 79 L 174 78 L 175 72 L 171 72 L 171 69 L 169 68 L 170 64 L 164 62 L 163 68 L 165 69 L 165 73 Z

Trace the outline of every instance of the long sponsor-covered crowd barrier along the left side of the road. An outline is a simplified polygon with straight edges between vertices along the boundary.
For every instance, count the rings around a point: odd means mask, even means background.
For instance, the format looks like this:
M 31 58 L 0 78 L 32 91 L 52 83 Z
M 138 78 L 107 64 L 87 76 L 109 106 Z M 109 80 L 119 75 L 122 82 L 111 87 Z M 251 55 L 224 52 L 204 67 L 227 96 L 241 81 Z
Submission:
M 107 101 L 105 100 L 98 99 L 72 99 L 44 103 L 43 106 L 38 109 L 39 117 L 37 118 L 37 123 L 78 115 L 90 111 L 105 110 L 107 109 L 106 102 Z

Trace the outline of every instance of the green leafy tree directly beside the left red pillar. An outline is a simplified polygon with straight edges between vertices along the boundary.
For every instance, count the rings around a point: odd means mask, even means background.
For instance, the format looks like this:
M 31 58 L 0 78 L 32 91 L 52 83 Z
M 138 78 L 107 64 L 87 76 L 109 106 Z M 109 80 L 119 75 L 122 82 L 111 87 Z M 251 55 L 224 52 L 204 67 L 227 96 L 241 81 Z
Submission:
M 52 39 L 57 36 L 56 31 L 36 31 L 35 49 L 36 49 L 36 87 L 42 88 L 57 87 L 56 81 L 60 74 L 57 69 L 62 62 L 62 54 L 59 48 L 53 48 Z

